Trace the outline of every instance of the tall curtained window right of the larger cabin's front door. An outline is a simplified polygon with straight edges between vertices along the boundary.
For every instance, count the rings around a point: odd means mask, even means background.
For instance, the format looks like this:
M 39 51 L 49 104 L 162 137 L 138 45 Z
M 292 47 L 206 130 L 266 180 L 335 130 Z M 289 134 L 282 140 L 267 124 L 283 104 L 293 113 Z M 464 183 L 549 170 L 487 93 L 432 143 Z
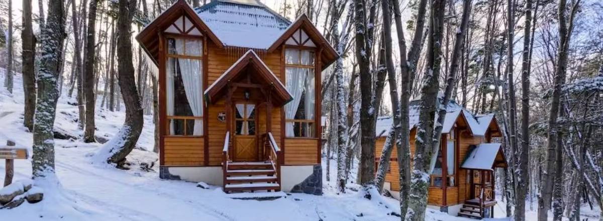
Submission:
M 286 49 L 285 84 L 293 100 L 285 105 L 287 137 L 315 137 L 314 51 Z

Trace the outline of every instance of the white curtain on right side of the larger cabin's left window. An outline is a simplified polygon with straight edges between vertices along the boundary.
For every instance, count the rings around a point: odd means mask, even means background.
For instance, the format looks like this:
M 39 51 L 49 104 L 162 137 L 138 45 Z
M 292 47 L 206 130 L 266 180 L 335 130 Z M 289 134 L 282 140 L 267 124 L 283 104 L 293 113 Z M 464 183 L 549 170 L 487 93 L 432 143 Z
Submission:
M 176 51 L 178 54 L 185 54 L 185 40 L 176 40 Z M 193 42 L 188 40 L 187 42 Z M 195 41 L 196 42 L 196 41 Z M 200 43 L 187 43 L 186 52 L 200 52 Z M 180 73 L 182 74 L 182 82 L 185 86 L 186 99 L 191 106 L 192 115 L 195 117 L 203 116 L 203 79 L 201 71 L 201 60 L 178 58 L 180 64 Z M 203 135 L 203 120 L 195 119 L 195 126 L 192 135 Z

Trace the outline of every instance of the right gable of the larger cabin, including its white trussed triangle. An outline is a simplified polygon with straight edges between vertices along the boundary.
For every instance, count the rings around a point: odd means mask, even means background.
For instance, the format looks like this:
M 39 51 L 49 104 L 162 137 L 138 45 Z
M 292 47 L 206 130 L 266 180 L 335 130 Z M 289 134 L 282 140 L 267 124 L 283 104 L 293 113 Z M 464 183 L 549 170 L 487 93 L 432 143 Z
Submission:
M 306 14 L 302 14 L 291 23 L 282 36 L 268 48 L 268 52 L 274 52 L 283 44 L 320 48 L 321 69 L 325 69 L 339 57 L 335 49 L 324 39 L 320 31 L 312 25 Z

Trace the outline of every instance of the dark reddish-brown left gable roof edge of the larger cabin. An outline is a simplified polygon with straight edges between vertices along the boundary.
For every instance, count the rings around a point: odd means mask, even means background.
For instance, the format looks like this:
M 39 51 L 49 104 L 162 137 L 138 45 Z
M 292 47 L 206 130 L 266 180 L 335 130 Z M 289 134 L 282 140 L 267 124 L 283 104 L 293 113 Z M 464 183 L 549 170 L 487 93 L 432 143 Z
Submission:
M 149 22 L 142 28 L 140 33 L 136 35 L 136 40 L 143 46 L 142 48 L 156 65 L 158 64 L 157 60 L 159 60 L 159 37 L 157 37 L 157 33 L 165 30 L 165 28 L 183 15 L 192 22 L 192 25 L 194 25 L 201 34 L 218 45 L 218 47 L 221 48 L 223 46 L 223 43 L 212 33 L 212 30 L 210 30 L 203 20 L 197 16 L 197 13 L 195 13 L 191 5 L 185 0 L 178 0 Z

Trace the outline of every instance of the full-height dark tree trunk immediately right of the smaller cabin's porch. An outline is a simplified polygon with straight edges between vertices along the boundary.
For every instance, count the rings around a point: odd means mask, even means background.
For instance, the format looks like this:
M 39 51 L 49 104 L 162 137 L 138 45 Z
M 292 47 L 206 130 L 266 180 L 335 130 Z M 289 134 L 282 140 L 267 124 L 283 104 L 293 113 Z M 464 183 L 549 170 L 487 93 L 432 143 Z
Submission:
M 529 187 L 529 57 L 532 25 L 532 0 L 526 0 L 525 26 L 523 27 L 523 60 L 522 60 L 522 145 L 517 147 L 517 170 L 519 180 L 515 190 L 516 207 L 514 218 L 516 221 L 525 220 L 526 193 Z

